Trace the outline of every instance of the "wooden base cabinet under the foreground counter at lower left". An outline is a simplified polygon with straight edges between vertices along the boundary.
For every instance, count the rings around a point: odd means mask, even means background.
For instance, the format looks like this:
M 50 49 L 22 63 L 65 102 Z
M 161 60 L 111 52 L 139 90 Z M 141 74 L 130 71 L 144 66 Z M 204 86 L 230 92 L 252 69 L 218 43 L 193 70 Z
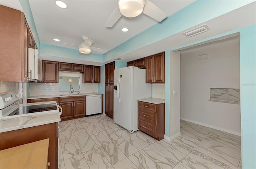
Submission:
M 0 133 L 0 150 L 49 138 L 48 169 L 58 168 L 58 123 Z M 21 152 L 22 153 L 22 152 Z

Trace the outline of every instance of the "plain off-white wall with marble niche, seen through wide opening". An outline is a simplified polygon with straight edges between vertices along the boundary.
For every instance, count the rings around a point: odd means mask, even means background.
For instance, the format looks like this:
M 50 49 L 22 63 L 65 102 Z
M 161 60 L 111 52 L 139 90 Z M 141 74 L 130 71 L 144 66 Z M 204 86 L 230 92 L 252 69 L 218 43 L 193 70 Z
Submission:
M 208 59 L 198 60 L 198 55 Z M 181 119 L 239 135 L 240 104 L 210 102 L 210 88 L 240 88 L 240 38 L 181 51 Z

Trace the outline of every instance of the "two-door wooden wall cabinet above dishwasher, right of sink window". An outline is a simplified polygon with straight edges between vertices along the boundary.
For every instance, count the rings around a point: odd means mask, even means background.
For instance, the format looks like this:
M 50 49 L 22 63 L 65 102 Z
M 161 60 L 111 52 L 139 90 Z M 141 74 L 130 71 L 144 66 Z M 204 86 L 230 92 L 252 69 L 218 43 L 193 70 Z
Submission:
M 84 65 L 83 83 L 100 83 L 100 67 Z

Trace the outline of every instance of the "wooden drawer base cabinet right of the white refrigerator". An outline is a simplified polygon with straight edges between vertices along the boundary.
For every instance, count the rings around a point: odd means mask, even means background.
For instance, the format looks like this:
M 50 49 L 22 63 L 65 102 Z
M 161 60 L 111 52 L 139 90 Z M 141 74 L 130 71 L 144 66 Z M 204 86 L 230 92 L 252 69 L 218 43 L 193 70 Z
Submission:
M 165 134 L 165 103 L 138 101 L 138 129 L 156 140 L 162 140 Z

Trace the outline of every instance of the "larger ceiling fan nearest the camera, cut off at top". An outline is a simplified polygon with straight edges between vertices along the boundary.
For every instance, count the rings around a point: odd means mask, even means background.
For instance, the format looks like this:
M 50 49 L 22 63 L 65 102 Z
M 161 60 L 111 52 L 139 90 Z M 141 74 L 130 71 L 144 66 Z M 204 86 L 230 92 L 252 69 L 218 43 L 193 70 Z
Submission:
M 161 22 L 167 14 L 149 0 L 118 0 L 118 7 L 114 10 L 105 27 L 112 27 L 123 15 L 128 18 L 139 16 L 141 13 Z

